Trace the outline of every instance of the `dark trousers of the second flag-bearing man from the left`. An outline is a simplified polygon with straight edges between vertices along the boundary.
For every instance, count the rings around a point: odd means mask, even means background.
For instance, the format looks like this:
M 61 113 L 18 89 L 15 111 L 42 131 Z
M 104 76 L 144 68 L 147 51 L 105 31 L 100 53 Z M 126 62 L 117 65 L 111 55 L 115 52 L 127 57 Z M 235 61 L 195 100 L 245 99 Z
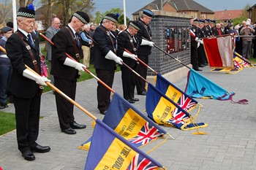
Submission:
M 54 77 L 54 84 L 56 88 L 59 88 L 63 93 L 65 93 L 69 98 L 75 101 L 75 90 L 76 90 L 76 80 L 64 80 L 59 77 Z M 56 93 L 56 107 L 59 117 L 59 125 L 61 129 L 70 128 L 70 124 L 74 123 L 75 117 L 73 114 L 74 106 L 67 99 L 62 97 L 59 93 Z

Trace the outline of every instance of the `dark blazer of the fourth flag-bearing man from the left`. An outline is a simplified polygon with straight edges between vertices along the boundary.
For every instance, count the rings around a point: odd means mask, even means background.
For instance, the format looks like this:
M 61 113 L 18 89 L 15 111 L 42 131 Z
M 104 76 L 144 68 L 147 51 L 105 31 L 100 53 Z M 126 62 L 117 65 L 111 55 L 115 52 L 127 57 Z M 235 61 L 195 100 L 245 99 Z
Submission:
M 124 63 L 126 63 L 129 67 L 135 68 L 136 61 L 133 60 L 132 58 L 127 58 L 127 57 L 123 56 L 124 48 L 129 50 L 129 52 L 131 52 L 131 53 L 135 53 L 133 50 L 133 47 L 132 47 L 133 42 L 130 42 L 129 36 L 127 34 L 129 34 L 129 32 L 126 30 L 126 31 L 122 31 L 117 36 L 117 42 L 118 42 L 117 54 L 119 57 L 121 57 L 123 59 Z M 136 47 L 136 45 L 135 45 L 135 47 Z M 121 66 L 126 67 L 124 65 L 121 65 Z

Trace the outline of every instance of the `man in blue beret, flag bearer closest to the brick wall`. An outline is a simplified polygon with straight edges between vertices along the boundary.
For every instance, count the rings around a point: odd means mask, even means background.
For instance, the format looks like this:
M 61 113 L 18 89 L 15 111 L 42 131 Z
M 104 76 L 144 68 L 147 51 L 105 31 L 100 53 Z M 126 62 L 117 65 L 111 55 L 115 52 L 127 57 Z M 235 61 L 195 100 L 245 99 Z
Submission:
M 138 50 L 138 58 L 144 63 L 148 64 L 148 55 L 151 54 L 151 48 L 154 47 L 154 42 L 152 42 L 151 29 L 148 26 L 151 18 L 154 16 L 154 12 L 149 9 L 143 9 L 138 24 L 140 26 L 140 31 L 138 31 L 137 38 L 140 43 L 140 48 Z M 138 64 L 136 72 L 140 74 L 144 79 L 146 79 L 148 68 L 143 66 L 143 64 Z M 136 77 L 136 88 L 138 95 L 146 95 L 146 82 L 140 77 Z

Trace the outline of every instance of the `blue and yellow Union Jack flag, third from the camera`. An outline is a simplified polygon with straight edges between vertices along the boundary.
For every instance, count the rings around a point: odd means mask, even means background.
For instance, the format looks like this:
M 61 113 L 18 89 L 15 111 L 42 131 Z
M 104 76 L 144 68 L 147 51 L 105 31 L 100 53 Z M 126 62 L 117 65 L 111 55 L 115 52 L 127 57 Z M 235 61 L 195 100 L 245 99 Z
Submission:
M 148 117 L 159 125 L 175 126 L 181 130 L 207 126 L 205 123 L 193 123 L 187 111 L 150 83 L 146 95 L 146 112 Z

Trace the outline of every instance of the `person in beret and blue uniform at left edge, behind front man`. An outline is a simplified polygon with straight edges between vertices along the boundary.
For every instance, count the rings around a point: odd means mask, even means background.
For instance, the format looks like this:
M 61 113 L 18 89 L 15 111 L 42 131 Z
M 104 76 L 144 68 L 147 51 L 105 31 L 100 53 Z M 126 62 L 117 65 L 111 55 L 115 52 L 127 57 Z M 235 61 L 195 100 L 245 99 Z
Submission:
M 5 43 L 7 39 L 12 35 L 12 28 L 9 26 L 4 26 L 1 28 L 1 33 L 3 37 L 0 39 L 1 47 L 5 48 Z M 8 107 L 7 105 L 7 82 L 10 79 L 12 74 L 12 65 L 10 59 L 7 57 L 7 54 L 0 51 L 0 109 Z

